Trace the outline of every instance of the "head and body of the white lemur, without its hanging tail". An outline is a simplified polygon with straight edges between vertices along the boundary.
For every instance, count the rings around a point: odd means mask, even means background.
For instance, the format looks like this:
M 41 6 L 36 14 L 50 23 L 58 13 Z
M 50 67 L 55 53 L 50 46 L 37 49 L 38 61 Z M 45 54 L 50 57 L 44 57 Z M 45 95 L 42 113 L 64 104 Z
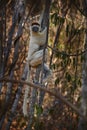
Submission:
M 43 31 L 40 31 L 39 23 L 32 23 L 30 27 L 30 44 L 28 50 L 28 62 L 31 67 L 37 67 L 42 63 L 43 49 L 39 50 L 40 46 L 43 46 L 46 41 L 47 27 Z M 47 50 L 45 56 L 47 57 Z

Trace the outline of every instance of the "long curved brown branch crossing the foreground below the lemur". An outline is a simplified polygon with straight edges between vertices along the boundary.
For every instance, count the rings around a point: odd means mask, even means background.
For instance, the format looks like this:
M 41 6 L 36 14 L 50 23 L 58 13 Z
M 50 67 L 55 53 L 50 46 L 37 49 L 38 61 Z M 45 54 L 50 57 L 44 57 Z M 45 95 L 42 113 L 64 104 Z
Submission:
M 43 85 L 39 85 L 39 84 L 37 85 L 37 84 L 31 83 L 31 82 L 26 82 L 26 81 L 22 81 L 22 80 L 18 81 L 18 80 L 10 80 L 10 79 L 0 79 L 0 82 L 12 82 L 12 83 L 26 84 L 26 85 L 29 85 L 30 87 L 35 88 L 35 89 L 40 89 L 40 90 L 50 94 L 51 96 L 55 96 L 56 98 L 59 98 L 63 103 L 65 103 L 72 110 L 74 110 L 85 121 L 87 121 L 87 118 L 79 111 L 79 109 L 76 106 L 74 106 L 72 103 L 67 101 L 67 99 L 65 99 L 65 97 L 63 95 L 61 95 L 59 92 L 56 94 L 54 92 L 51 92 L 47 88 L 42 87 Z

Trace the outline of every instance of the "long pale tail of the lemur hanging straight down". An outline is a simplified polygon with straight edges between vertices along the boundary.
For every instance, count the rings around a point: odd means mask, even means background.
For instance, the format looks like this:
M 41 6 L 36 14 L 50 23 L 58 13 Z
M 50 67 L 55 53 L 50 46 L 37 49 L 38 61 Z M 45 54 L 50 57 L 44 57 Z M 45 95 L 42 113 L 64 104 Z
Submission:
M 30 69 L 29 69 L 29 65 L 28 65 L 28 74 L 27 74 L 26 81 L 29 82 L 29 80 L 30 80 Z M 23 101 L 23 114 L 24 114 L 24 116 L 28 116 L 27 100 L 28 100 L 29 89 L 30 89 L 29 85 L 26 85 L 25 93 L 24 93 L 24 101 Z

